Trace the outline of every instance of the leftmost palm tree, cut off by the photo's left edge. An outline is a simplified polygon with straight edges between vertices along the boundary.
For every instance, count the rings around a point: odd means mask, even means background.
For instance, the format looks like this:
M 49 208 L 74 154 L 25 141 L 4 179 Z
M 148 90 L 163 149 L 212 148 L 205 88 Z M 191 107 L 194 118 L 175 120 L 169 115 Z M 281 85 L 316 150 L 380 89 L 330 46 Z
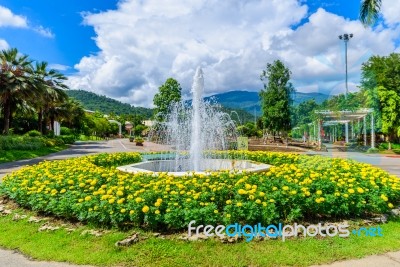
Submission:
M 8 134 L 13 102 L 26 99 L 32 92 L 32 61 L 19 55 L 16 48 L 0 52 L 0 106 L 3 114 L 3 133 Z

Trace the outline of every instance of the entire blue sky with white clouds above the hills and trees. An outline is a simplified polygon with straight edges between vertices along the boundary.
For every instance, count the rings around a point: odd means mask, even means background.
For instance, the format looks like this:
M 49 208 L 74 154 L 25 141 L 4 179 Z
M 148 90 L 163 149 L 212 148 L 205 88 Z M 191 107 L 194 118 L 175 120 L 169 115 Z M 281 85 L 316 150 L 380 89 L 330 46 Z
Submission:
M 281 60 L 299 92 L 359 90 L 372 55 L 400 52 L 400 0 L 383 0 L 373 27 L 359 0 L 0 0 L 0 49 L 47 61 L 71 89 L 152 107 L 168 78 L 190 98 L 201 66 L 205 94 L 259 92 L 267 63 Z

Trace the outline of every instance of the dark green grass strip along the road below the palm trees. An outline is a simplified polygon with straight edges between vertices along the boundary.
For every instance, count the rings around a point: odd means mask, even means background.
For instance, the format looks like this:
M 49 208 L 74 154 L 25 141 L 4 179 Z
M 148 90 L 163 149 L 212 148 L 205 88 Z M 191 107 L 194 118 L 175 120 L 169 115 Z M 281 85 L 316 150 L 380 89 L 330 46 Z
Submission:
M 55 147 L 42 147 L 35 150 L 0 150 L 0 163 L 11 162 L 21 159 L 32 159 L 59 152 L 68 148 L 67 145 Z

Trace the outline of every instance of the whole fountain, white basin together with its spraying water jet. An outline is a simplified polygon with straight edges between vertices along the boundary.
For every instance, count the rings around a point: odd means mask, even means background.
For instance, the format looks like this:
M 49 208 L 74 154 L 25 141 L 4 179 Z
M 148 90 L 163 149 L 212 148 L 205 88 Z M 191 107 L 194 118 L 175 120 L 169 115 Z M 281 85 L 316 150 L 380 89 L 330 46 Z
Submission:
M 152 133 L 158 143 L 171 145 L 174 153 L 160 154 L 161 160 L 148 160 L 118 167 L 124 172 L 168 172 L 175 176 L 187 173 L 207 174 L 211 171 L 234 170 L 260 172 L 270 166 L 229 158 L 215 158 L 209 153 L 228 150 L 236 142 L 236 125 L 230 116 L 215 104 L 203 100 L 204 78 L 199 67 L 193 79 L 191 105 L 174 103 L 166 120 L 157 125 Z

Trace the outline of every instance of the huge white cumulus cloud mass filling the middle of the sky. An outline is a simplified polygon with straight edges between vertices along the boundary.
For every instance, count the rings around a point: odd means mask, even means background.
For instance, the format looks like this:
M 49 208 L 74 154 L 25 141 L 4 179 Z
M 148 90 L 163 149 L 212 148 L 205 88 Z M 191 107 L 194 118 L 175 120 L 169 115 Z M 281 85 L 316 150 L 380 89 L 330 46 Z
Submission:
M 322 8 L 307 12 L 307 5 L 296 0 L 121 0 L 116 10 L 84 14 L 100 52 L 75 65 L 69 85 L 151 106 L 169 77 L 188 95 L 199 65 L 206 94 L 259 91 L 266 63 L 281 59 L 299 90 L 330 94 L 344 88 L 339 34 L 354 34 L 348 50 L 351 90 L 359 81 L 361 62 L 396 49 L 395 26 L 367 29 Z M 387 23 L 393 21 L 385 16 Z

